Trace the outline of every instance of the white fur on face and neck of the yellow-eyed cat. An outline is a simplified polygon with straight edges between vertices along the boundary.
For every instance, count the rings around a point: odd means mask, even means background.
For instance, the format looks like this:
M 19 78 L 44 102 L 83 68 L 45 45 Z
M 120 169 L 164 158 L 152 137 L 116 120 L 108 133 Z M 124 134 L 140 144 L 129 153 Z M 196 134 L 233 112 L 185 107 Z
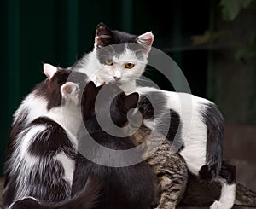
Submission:
M 87 74 L 89 80 L 92 80 L 96 86 L 110 82 L 115 83 L 114 77 L 119 77 L 121 78 L 119 87 L 129 94 L 136 90 L 136 79 L 143 74 L 147 59 L 148 55 L 145 54 L 143 61 L 139 60 L 134 51 L 126 48 L 122 55 L 113 56 L 113 66 L 108 66 L 99 62 L 96 58 L 96 49 L 94 49 L 79 61 L 80 65 L 75 70 Z M 131 69 L 125 68 L 125 64 L 128 62 L 135 66 Z

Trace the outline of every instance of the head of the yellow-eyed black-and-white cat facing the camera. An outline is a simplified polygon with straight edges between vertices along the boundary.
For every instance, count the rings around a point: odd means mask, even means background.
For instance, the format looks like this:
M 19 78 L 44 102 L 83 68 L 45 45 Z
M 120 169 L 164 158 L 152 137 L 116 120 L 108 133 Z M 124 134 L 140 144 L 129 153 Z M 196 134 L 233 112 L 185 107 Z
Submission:
M 153 40 L 152 32 L 131 35 L 100 23 L 95 38 L 96 57 L 100 63 L 97 82 L 125 84 L 139 78 L 148 62 Z

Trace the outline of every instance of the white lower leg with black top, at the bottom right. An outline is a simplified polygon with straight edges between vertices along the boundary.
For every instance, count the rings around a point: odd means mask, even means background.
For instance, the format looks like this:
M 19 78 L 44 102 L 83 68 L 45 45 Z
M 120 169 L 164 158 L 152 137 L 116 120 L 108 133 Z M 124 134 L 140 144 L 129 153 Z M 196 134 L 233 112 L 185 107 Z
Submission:
M 230 209 L 236 200 L 236 167 L 223 162 L 219 177 L 222 184 L 221 195 L 218 201 L 214 201 L 210 209 Z

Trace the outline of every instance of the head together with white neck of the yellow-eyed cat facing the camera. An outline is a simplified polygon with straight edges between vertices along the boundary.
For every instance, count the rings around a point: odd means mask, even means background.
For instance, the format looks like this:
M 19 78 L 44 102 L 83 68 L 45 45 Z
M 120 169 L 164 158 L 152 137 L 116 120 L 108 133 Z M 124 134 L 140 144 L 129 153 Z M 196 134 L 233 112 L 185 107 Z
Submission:
M 115 83 L 122 86 L 125 93 L 131 93 L 136 90 L 136 79 L 144 72 L 153 39 L 152 32 L 136 36 L 110 31 L 100 23 L 94 50 L 77 61 L 73 70 L 86 73 L 96 85 Z

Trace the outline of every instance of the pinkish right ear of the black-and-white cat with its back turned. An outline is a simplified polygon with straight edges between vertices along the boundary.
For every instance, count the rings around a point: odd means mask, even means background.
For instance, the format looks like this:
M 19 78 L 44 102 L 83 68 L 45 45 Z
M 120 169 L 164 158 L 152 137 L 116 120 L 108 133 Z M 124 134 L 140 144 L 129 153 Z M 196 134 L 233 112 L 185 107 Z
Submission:
M 76 102 L 79 101 L 79 84 L 75 84 L 73 82 L 67 82 L 61 85 L 61 96 L 69 101 Z

